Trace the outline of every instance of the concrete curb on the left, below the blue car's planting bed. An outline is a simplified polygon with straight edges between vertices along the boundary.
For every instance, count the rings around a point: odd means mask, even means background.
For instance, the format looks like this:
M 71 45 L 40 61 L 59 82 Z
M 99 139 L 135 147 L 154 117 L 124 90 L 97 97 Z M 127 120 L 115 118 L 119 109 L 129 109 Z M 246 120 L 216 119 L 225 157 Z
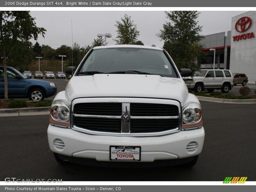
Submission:
M 49 115 L 51 107 L 0 109 L 0 116 Z

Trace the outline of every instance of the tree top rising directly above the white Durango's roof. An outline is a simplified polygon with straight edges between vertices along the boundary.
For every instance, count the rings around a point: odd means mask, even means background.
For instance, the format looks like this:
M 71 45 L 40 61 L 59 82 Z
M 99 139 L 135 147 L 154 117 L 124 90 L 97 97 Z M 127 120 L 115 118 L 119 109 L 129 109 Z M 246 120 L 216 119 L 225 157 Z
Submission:
M 137 30 L 136 24 L 131 20 L 131 16 L 124 15 L 120 21 L 116 21 L 115 24 L 117 30 L 116 44 L 134 44 L 137 41 L 140 32 Z

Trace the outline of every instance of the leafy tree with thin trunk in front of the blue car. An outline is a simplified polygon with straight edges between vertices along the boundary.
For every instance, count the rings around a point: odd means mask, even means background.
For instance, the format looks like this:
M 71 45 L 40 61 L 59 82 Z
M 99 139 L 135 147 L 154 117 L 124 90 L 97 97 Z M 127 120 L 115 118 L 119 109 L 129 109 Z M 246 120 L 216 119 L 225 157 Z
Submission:
M 27 48 L 30 39 L 37 40 L 38 34 L 44 37 L 45 29 L 36 27 L 35 18 L 29 11 L 0 11 L 0 52 L 4 63 L 4 98 L 8 100 L 6 57 L 13 51 L 18 41 Z

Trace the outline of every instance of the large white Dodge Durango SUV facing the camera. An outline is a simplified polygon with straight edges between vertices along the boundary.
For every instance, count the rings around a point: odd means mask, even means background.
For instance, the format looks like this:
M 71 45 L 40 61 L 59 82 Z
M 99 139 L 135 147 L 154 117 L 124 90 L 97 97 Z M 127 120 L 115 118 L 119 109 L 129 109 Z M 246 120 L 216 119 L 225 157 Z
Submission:
M 180 74 L 165 50 L 140 45 L 94 47 L 85 58 L 51 106 L 59 163 L 196 164 L 204 127 L 182 79 L 191 70 Z

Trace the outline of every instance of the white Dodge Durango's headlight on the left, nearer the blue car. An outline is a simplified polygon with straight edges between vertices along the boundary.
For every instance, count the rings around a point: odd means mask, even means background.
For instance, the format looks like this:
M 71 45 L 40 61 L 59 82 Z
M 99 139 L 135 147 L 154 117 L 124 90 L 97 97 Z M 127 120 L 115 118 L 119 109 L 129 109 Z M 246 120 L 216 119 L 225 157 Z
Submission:
M 52 102 L 50 123 L 69 127 L 69 108 L 70 106 L 63 100 Z

